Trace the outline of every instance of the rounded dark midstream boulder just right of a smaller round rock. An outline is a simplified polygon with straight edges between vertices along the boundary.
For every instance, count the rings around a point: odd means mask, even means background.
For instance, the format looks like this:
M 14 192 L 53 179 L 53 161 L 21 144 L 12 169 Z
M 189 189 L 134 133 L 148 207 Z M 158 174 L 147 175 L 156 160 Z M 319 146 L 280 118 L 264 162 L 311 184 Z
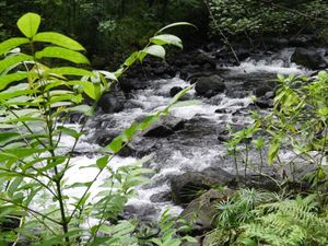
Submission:
M 203 95 L 207 97 L 214 96 L 219 93 L 224 92 L 225 90 L 224 79 L 222 79 L 218 74 L 209 75 L 209 77 L 200 77 L 197 80 L 195 90 L 199 95 Z

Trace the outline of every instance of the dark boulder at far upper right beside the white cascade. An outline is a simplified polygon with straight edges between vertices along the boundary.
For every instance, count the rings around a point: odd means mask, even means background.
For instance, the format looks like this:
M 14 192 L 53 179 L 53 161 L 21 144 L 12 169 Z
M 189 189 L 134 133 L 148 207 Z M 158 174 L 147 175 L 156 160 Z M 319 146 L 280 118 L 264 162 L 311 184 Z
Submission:
M 327 61 L 316 49 L 296 48 L 291 61 L 312 70 L 325 69 Z

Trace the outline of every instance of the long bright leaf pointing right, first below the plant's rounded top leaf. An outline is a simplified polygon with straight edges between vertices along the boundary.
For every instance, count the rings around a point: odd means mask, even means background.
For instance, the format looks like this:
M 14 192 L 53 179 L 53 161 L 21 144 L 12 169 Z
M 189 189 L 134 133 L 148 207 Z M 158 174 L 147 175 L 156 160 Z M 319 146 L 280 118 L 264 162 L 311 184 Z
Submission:
M 58 45 L 72 50 L 85 50 L 82 45 L 72 38 L 54 32 L 38 33 L 33 37 L 34 42 L 46 42 Z

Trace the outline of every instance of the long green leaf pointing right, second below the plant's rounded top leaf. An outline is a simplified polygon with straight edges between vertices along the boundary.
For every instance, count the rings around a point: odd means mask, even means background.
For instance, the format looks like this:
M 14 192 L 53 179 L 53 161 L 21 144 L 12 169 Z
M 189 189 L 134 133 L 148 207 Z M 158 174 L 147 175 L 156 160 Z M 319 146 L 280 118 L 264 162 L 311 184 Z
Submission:
M 35 57 L 36 59 L 42 59 L 44 57 L 58 58 L 81 65 L 90 63 L 87 58 L 82 54 L 61 47 L 46 47 L 42 51 L 37 51 Z

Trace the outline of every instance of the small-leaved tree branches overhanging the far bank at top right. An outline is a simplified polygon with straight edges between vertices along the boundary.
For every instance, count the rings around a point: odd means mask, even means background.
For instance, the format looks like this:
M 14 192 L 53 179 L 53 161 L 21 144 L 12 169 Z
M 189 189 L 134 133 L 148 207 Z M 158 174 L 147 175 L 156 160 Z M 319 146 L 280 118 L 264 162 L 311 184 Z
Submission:
M 210 11 L 212 35 L 277 35 L 304 28 L 321 32 L 327 24 L 328 4 L 324 0 L 211 0 Z

